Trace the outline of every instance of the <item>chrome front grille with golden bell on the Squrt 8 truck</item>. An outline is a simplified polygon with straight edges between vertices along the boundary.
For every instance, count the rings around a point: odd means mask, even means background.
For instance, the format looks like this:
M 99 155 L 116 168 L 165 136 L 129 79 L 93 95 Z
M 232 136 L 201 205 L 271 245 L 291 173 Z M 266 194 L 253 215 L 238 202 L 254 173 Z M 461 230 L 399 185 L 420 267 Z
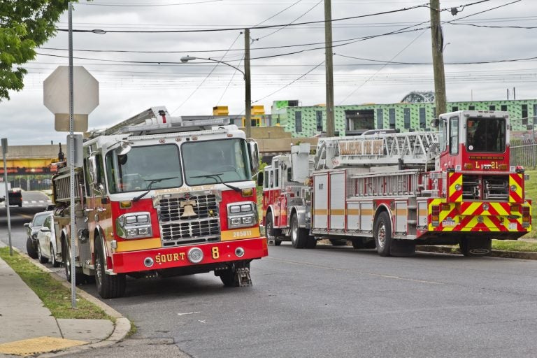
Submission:
M 215 195 L 160 199 L 162 245 L 176 246 L 220 240 L 220 220 Z

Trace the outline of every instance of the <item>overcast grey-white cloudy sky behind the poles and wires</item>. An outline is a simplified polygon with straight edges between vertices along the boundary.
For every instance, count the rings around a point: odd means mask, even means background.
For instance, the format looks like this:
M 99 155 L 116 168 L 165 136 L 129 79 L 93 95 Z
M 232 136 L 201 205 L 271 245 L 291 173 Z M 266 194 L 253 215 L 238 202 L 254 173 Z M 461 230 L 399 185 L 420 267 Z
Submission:
M 202 59 L 180 62 L 190 55 L 243 69 L 244 28 L 252 39 L 253 104 L 270 113 L 280 99 L 325 102 L 322 0 L 94 0 L 74 8 L 73 29 L 90 31 L 73 34 L 73 62 L 99 81 L 90 129 L 152 106 L 173 115 L 210 115 L 213 106 L 244 113 L 240 72 Z M 434 90 L 426 2 L 332 0 L 331 8 L 336 105 L 394 103 Z M 441 8 L 448 101 L 506 99 L 508 89 L 512 99 L 513 88 L 517 99 L 537 98 L 537 1 L 441 0 Z M 67 29 L 67 13 L 57 27 Z M 10 145 L 65 141 L 43 106 L 43 80 L 68 64 L 67 48 L 68 34 L 58 31 L 25 65 L 24 90 L 0 102 L 0 136 Z

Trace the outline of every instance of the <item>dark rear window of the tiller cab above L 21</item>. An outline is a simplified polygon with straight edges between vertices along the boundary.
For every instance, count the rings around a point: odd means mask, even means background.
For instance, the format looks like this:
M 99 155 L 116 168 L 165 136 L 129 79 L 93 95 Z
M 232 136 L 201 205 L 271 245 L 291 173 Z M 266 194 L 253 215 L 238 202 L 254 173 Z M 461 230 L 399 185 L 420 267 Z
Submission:
M 506 119 L 470 117 L 466 120 L 468 152 L 504 152 L 506 150 Z

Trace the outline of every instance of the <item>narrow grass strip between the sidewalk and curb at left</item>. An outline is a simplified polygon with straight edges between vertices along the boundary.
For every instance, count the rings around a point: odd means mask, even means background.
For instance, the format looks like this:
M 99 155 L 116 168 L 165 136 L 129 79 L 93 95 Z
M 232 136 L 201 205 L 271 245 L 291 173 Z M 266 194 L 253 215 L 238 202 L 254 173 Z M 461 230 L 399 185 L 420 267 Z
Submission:
M 0 257 L 37 294 L 55 318 L 113 320 L 101 308 L 78 295 L 76 308 L 71 308 L 71 290 L 18 252 L 14 251 L 10 256 L 9 248 L 0 248 Z

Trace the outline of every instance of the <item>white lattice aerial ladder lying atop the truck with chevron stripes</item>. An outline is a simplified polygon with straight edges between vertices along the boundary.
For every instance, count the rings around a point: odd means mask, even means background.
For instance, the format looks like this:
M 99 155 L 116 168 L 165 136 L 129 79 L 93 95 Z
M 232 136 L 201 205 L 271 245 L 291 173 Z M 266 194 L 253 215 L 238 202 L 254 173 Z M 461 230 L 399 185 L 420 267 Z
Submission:
M 434 164 L 438 134 L 430 131 L 319 138 L 315 169 Z

